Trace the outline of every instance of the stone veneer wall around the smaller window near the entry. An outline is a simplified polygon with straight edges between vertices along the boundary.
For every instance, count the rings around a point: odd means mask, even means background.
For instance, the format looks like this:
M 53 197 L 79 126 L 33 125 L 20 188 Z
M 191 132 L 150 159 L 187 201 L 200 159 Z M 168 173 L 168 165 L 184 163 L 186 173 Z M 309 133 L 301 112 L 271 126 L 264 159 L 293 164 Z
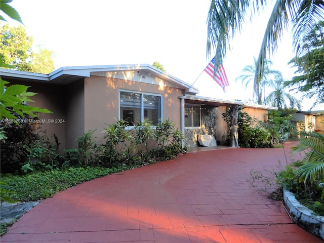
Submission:
M 201 127 L 199 129 L 185 128 L 185 146 L 199 146 L 198 135 L 214 135 L 216 134 L 216 114 L 218 107 L 204 105 L 201 106 Z

